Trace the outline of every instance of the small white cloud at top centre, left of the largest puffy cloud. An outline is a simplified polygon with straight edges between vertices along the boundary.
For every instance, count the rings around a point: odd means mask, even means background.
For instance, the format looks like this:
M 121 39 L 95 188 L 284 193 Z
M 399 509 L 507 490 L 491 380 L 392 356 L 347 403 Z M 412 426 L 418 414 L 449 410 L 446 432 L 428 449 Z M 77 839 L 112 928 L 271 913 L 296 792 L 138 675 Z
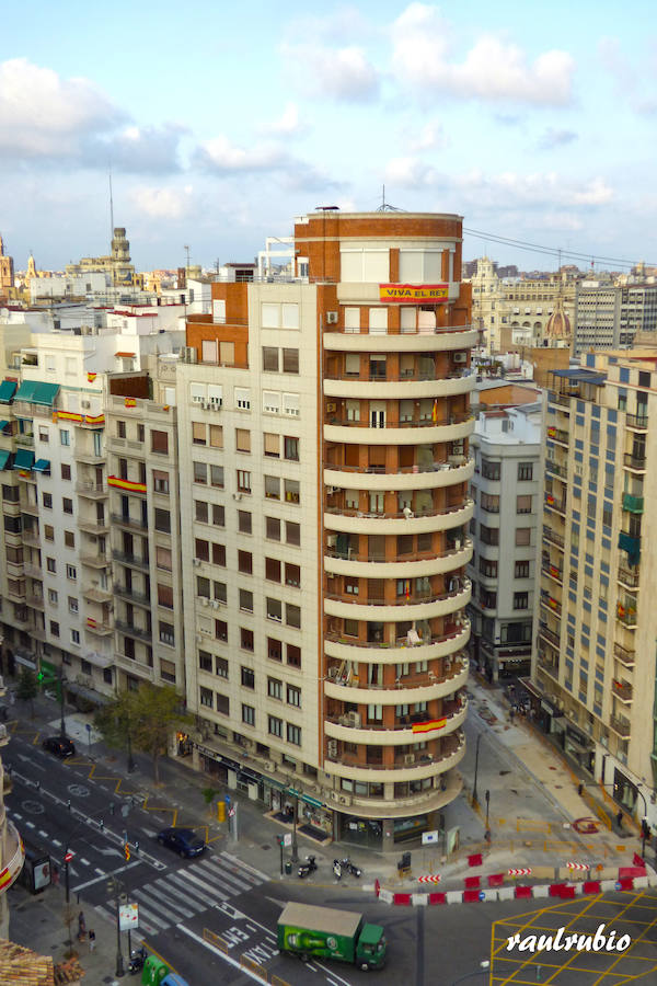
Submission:
M 368 102 L 379 94 L 380 76 L 362 48 L 331 48 L 301 42 L 284 44 L 286 62 L 315 96 L 344 102 Z

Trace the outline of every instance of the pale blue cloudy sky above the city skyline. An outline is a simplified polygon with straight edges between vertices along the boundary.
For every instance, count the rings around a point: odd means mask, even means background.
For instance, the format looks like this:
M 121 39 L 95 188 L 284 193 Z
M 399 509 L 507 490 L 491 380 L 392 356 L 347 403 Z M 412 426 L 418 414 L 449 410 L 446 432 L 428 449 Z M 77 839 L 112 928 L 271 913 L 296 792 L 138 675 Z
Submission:
M 320 205 L 460 213 L 464 254 L 657 263 L 657 28 L 635 0 L 2 4 L 16 267 L 250 260 Z M 590 260 L 589 260 L 590 263 Z M 581 266 L 587 266 L 583 260 Z M 600 266 L 620 264 L 600 262 Z

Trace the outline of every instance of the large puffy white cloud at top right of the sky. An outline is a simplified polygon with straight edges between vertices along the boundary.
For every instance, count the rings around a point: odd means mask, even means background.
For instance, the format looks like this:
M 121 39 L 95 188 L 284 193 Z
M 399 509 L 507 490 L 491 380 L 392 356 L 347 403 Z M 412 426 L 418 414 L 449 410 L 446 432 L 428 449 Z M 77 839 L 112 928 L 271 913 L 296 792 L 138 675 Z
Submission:
M 411 3 L 391 28 L 392 67 L 401 84 L 427 98 L 443 91 L 461 99 L 565 105 L 572 99 L 575 62 L 567 51 L 526 53 L 495 35 L 479 37 L 456 60 L 451 31 L 436 7 Z

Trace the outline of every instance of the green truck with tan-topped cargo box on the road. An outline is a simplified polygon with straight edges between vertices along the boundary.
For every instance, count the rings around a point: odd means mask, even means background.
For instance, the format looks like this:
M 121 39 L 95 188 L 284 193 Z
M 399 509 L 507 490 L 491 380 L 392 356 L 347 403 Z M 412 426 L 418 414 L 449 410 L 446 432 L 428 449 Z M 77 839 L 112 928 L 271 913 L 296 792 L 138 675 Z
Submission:
M 278 948 L 308 959 L 341 959 L 364 972 L 385 965 L 388 942 L 380 925 L 334 907 L 287 904 L 278 918 Z

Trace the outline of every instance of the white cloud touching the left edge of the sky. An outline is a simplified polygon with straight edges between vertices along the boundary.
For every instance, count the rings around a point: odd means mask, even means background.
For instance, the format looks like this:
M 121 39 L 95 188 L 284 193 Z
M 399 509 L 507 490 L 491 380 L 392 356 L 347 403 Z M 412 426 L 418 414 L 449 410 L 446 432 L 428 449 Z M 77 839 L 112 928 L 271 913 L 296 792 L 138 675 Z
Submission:
M 10 157 L 74 157 L 81 140 L 124 114 L 89 79 L 62 79 L 26 58 L 0 64 L 0 149 Z

